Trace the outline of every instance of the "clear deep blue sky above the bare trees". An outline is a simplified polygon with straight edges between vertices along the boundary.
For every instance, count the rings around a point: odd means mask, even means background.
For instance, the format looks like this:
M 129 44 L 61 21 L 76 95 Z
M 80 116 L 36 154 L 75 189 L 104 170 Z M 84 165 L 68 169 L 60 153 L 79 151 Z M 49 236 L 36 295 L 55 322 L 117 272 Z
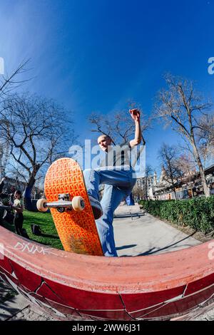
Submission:
M 133 99 L 150 115 L 168 71 L 212 98 L 213 13 L 213 0 L 0 0 L 0 57 L 7 71 L 31 58 L 24 89 L 63 103 L 91 138 L 94 111 L 126 113 Z M 154 168 L 161 143 L 178 143 L 159 124 L 145 137 Z

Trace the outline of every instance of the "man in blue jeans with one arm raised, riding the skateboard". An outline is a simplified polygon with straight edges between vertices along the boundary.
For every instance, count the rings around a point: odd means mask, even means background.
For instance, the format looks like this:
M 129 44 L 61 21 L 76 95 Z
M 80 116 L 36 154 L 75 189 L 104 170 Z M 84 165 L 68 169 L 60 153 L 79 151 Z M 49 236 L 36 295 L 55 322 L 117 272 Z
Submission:
M 114 150 L 108 135 L 99 136 L 98 145 L 106 153 L 106 159 L 103 160 L 100 168 L 83 171 L 103 254 L 106 257 L 118 256 L 113 237 L 113 212 L 121 201 L 131 194 L 136 184 L 136 175 L 130 163 L 130 151 L 141 143 L 140 112 L 133 109 L 130 113 L 136 124 L 135 138 L 130 142 L 122 143 Z M 98 190 L 101 184 L 104 184 L 105 188 L 103 198 L 99 202 Z

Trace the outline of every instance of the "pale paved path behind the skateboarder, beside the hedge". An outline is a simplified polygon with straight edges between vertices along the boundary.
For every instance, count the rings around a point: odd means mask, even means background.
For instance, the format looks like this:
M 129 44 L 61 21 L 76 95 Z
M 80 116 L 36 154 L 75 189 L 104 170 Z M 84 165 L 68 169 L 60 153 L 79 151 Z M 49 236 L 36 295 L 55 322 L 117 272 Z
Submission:
M 121 205 L 113 221 L 118 256 L 161 254 L 200 244 L 180 230 L 143 213 L 138 205 Z

